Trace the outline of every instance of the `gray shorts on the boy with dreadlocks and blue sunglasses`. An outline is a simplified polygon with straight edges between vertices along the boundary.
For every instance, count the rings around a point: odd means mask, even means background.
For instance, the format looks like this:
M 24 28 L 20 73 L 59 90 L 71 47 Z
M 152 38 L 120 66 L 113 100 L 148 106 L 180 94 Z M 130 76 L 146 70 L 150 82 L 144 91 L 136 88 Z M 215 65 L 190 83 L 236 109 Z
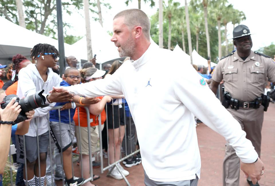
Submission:
M 25 147 L 26 147 L 26 158 L 32 163 L 38 158 L 38 145 L 37 138 L 39 143 L 39 153 L 46 153 L 49 145 L 49 131 L 44 134 L 36 137 L 26 136 L 25 135 Z M 25 163 L 24 161 L 24 142 L 23 136 L 16 135 L 16 155 L 17 162 Z

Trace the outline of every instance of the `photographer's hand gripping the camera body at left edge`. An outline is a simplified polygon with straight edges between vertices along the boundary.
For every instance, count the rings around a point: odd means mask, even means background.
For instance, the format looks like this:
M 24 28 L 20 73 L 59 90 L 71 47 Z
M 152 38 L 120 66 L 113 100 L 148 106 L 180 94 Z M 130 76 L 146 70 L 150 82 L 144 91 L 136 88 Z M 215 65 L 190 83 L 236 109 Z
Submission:
M 0 107 L 0 116 L 2 121 L 15 121 L 21 111 L 21 106 L 15 102 L 16 97 L 13 97 L 5 109 Z M 14 103 L 15 102 L 15 103 Z M 13 104 L 14 103 L 14 104 Z

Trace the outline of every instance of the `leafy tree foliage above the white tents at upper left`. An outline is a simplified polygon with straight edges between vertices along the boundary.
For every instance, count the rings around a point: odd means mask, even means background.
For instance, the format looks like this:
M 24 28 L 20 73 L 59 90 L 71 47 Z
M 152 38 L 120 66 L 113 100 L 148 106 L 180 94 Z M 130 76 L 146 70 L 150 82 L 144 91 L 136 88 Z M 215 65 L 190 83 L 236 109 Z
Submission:
M 103 1 L 103 0 L 101 0 Z M 25 9 L 25 23 L 26 28 L 36 31 L 37 33 L 55 38 L 57 37 L 57 20 L 56 20 L 56 0 L 22 0 L 23 9 Z M 91 11 L 98 13 L 97 0 L 90 2 Z M 111 9 L 109 3 L 101 2 L 101 5 L 107 9 Z M 71 15 L 77 10 L 83 9 L 82 0 L 62 0 L 62 13 Z M 0 1 L 0 16 L 5 17 L 9 21 L 19 24 L 17 18 L 17 7 L 15 0 Z M 93 17 L 97 20 L 96 17 Z M 68 23 L 63 22 L 64 40 L 65 42 L 74 42 L 79 36 L 66 35 L 66 30 L 70 29 Z M 67 37 L 67 38 L 66 38 Z M 66 39 L 65 39 L 66 38 Z

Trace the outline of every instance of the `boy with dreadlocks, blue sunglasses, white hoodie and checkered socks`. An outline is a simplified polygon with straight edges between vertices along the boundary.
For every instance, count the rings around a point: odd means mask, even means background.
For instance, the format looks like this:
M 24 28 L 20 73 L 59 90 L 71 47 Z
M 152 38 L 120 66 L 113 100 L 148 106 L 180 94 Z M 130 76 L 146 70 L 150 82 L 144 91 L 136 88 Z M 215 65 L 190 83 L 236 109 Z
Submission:
M 52 71 L 57 61 L 59 52 L 49 44 L 37 44 L 31 52 L 31 58 L 36 59 L 36 64 L 29 64 L 18 73 L 17 95 L 19 98 L 28 97 L 36 91 L 44 89 L 44 93 L 52 90 L 53 86 L 59 86 L 59 77 Z M 46 152 L 49 144 L 49 131 L 47 114 L 55 105 L 54 102 L 64 102 L 73 98 L 68 92 L 62 94 L 52 91 L 44 94 L 48 107 L 37 108 L 34 119 L 30 122 L 29 132 L 25 135 L 25 153 L 27 164 L 24 167 L 24 181 L 28 185 L 44 185 L 46 175 Z M 24 163 L 23 136 L 17 137 L 17 161 Z M 39 148 L 38 148 L 39 147 Z M 40 158 L 40 170 L 38 156 Z M 28 177 L 25 175 L 27 169 Z

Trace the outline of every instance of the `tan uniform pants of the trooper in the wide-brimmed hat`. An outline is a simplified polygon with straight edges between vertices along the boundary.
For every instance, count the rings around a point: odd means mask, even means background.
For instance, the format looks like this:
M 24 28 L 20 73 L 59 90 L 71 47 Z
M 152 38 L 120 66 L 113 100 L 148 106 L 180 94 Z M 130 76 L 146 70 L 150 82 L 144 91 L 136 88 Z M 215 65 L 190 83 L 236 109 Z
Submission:
M 258 109 L 227 109 L 232 116 L 240 123 L 241 128 L 246 132 L 246 138 L 252 142 L 258 156 L 261 155 L 262 124 L 264 121 L 264 107 Z M 256 160 L 255 160 L 256 161 Z M 223 186 L 239 186 L 240 159 L 229 143 L 226 144 L 225 157 L 223 160 Z

